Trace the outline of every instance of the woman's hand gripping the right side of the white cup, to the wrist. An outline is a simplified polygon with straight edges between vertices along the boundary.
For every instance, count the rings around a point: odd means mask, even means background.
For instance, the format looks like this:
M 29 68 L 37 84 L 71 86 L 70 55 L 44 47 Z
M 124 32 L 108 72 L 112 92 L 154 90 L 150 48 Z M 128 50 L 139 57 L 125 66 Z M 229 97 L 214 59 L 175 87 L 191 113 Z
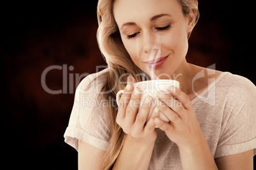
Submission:
M 170 95 L 159 92 L 157 108 L 166 115 L 169 123 L 155 118 L 155 125 L 165 131 L 167 137 L 178 147 L 196 147 L 205 140 L 188 96 L 178 88 L 170 86 Z

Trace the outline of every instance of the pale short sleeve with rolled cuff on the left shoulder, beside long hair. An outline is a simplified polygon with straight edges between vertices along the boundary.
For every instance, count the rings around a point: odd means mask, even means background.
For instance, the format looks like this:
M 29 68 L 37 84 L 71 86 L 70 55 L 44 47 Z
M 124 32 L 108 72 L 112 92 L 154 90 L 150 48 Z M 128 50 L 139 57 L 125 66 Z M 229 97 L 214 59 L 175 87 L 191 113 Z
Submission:
M 110 129 L 103 109 L 106 103 L 103 102 L 100 94 L 103 79 L 94 79 L 94 77 L 95 74 L 87 76 L 76 88 L 68 128 L 64 133 L 65 142 L 76 150 L 79 140 L 102 150 L 108 148 Z

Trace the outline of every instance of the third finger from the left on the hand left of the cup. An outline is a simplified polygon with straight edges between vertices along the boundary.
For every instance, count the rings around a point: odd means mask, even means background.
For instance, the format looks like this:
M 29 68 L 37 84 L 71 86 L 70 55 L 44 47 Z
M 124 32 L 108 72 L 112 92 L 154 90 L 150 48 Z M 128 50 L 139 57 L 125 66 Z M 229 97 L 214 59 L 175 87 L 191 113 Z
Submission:
M 152 106 L 152 98 L 150 96 L 146 96 L 145 100 L 141 100 L 140 102 L 139 112 L 136 116 L 134 125 L 136 126 L 135 129 L 142 131 Z

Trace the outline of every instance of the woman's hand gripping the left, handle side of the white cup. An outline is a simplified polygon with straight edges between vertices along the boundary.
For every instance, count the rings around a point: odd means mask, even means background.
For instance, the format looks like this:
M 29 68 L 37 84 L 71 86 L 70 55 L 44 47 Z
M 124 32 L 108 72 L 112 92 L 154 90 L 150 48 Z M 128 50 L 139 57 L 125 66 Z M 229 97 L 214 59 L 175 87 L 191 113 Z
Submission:
M 152 105 L 152 98 L 147 96 L 141 107 L 139 108 L 139 101 L 141 94 L 140 89 L 134 89 L 132 83 L 135 79 L 128 77 L 127 86 L 120 98 L 120 105 L 117 113 L 117 124 L 128 134 L 127 140 L 131 143 L 147 145 L 154 145 L 157 138 L 157 131 L 155 131 L 154 118 L 159 117 L 160 112 L 153 112 L 149 121 L 146 122 L 150 107 Z M 139 108 L 139 112 L 138 112 Z

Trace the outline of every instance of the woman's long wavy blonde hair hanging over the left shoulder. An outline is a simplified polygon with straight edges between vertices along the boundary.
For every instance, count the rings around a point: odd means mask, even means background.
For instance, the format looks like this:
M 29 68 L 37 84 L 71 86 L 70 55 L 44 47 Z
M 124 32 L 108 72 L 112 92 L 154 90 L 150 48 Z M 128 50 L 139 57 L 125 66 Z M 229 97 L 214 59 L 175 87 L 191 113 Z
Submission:
M 190 10 L 194 11 L 197 20 L 199 18 L 198 2 L 197 0 L 176 0 L 180 3 L 183 10 L 183 14 L 188 16 Z M 125 88 L 125 84 L 120 82 L 126 82 L 128 75 L 131 75 L 137 82 L 150 79 L 134 62 L 132 62 L 129 53 L 126 51 L 120 32 L 118 30 L 117 23 L 113 15 L 113 4 L 115 0 L 99 0 L 97 5 L 97 19 L 99 23 L 99 29 L 97 30 L 97 41 L 103 58 L 108 64 L 109 71 L 102 76 L 106 77 L 101 92 L 103 92 L 104 100 L 111 103 L 111 100 L 115 100 L 115 96 L 120 89 Z M 188 34 L 190 37 L 191 32 Z M 125 76 L 124 76 L 125 75 Z M 117 86 L 118 84 L 118 86 Z M 104 93 L 111 91 L 111 93 Z M 104 155 L 101 169 L 111 169 L 115 160 L 124 145 L 127 134 L 122 131 L 122 128 L 115 122 L 117 117 L 117 105 L 113 107 L 104 107 L 104 113 L 109 119 L 109 127 L 111 131 L 109 147 Z

